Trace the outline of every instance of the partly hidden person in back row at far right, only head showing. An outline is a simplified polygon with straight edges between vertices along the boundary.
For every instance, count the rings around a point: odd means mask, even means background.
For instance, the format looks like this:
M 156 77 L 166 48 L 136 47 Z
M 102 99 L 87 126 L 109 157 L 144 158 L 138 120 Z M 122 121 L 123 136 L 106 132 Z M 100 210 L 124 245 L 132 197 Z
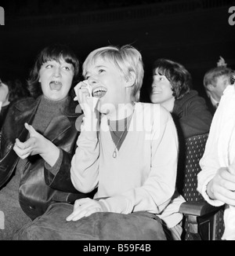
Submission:
M 227 68 L 225 60 L 220 57 L 217 67 L 209 69 L 203 79 L 204 89 L 208 95 L 208 107 L 214 115 L 219 106 L 219 101 L 222 97 L 226 86 L 230 85 L 230 77 L 233 70 Z

